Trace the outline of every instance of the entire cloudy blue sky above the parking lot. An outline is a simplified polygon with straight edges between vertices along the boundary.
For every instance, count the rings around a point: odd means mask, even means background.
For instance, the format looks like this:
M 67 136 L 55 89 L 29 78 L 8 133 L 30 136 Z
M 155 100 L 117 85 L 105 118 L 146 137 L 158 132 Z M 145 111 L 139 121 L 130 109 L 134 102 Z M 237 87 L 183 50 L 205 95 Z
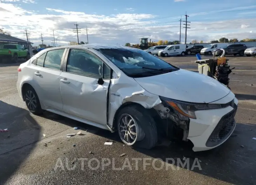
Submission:
M 79 42 L 120 44 L 179 40 L 180 19 L 189 16 L 187 43 L 256 38 L 255 0 L 0 0 L 0 28 L 33 46 L 52 45 L 53 30 L 58 45 L 77 42 L 74 24 L 79 24 Z M 185 28 L 181 28 L 181 42 Z

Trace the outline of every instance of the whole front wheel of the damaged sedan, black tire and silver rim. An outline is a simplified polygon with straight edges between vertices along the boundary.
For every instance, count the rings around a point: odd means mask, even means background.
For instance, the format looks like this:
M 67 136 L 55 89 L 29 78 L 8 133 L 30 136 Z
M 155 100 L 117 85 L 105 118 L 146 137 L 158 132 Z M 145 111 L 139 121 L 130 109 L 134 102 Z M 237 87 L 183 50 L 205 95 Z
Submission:
M 128 146 L 151 149 L 157 143 L 154 119 L 139 105 L 123 108 L 117 115 L 117 130 Z

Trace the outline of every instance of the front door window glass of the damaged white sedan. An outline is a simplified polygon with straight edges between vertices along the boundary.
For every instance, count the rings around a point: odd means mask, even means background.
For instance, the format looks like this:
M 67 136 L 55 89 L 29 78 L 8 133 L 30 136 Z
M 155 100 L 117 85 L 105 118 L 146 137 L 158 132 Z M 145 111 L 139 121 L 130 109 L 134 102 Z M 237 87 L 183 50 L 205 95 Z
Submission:
M 107 72 L 107 69 L 105 70 Z M 102 61 L 85 50 L 71 49 L 68 55 L 66 71 L 99 78 L 102 75 Z

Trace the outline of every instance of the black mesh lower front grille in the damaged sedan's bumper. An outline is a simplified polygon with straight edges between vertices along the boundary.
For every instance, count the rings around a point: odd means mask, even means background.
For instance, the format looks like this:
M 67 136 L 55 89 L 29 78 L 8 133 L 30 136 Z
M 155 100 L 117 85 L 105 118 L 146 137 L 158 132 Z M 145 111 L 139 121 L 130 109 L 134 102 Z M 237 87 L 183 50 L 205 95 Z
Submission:
M 207 147 L 218 145 L 230 135 L 235 127 L 236 110 L 237 106 L 234 104 L 234 109 L 221 118 L 206 142 Z

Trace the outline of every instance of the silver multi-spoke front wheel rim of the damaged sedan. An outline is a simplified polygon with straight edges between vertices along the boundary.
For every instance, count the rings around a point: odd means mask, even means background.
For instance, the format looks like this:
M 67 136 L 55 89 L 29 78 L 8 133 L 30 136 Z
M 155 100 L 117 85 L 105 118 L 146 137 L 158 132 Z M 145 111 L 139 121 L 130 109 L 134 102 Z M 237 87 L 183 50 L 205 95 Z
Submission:
M 137 140 L 138 126 L 129 114 L 122 114 L 118 120 L 118 132 L 126 145 L 133 145 Z

